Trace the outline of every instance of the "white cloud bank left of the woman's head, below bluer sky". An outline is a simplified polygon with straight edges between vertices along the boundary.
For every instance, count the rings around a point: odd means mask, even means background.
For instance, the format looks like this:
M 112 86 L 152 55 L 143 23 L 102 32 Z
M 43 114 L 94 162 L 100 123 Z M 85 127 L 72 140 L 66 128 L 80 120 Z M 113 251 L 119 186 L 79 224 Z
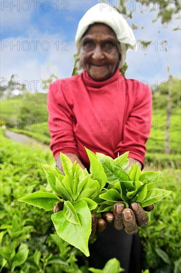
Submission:
M 16 39 L 9 37 L 8 46 L 1 52 L 3 53 L 1 54 L 2 76 L 9 79 L 16 73 L 20 82 L 29 81 L 32 89 L 35 86 L 34 81 L 40 81 L 40 78 L 49 76 L 49 74 L 44 75 L 48 64 L 52 69 L 49 72 L 54 70 L 54 74 L 58 77 L 71 76 L 75 52 L 74 42 L 66 41 L 64 37 L 64 34 L 45 34 L 33 28 L 26 37 L 19 36 Z M 18 46 L 13 47 L 13 45 Z M 28 47 L 29 50 L 26 51 Z M 37 86 L 40 90 L 40 83 Z

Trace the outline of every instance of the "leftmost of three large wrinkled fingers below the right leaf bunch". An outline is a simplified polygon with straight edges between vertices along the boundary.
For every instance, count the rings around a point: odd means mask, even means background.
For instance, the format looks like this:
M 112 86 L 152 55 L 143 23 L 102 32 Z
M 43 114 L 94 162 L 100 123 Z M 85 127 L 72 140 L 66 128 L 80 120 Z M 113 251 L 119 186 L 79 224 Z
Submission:
M 114 214 L 114 227 L 117 230 L 121 230 L 124 228 L 123 224 L 123 218 L 122 218 L 122 212 L 125 208 L 124 203 L 116 203 L 113 208 L 113 214 Z

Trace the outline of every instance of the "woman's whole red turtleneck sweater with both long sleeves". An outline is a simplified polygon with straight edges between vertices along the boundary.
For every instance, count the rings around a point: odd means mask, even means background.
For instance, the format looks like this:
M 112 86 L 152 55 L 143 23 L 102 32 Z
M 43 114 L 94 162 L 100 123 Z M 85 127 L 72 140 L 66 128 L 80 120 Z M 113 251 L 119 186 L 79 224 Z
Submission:
M 50 84 L 47 108 L 54 157 L 61 151 L 89 159 L 84 146 L 112 158 L 130 151 L 144 165 L 145 142 L 151 128 L 151 89 L 134 79 L 114 75 L 94 81 L 84 71 Z

